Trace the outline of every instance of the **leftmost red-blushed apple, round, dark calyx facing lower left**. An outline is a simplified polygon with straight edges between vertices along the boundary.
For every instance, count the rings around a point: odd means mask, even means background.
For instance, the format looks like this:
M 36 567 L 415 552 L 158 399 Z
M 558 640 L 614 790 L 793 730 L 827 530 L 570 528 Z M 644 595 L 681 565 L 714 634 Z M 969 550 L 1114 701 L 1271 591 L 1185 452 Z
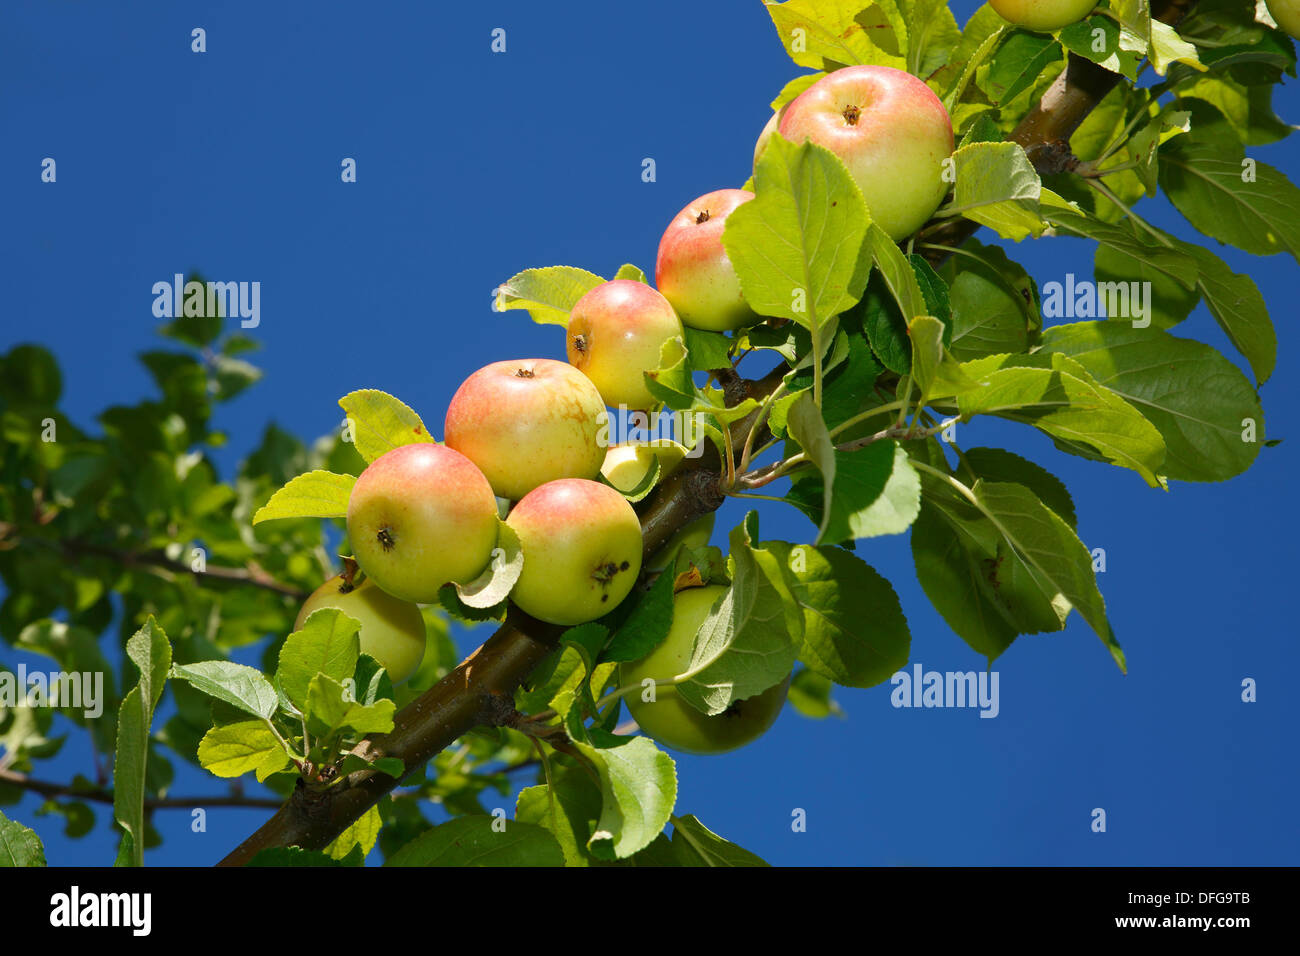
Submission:
M 488 567 L 497 520 L 484 473 L 459 451 L 429 442 L 376 458 L 347 502 L 356 563 L 382 591 L 419 604 Z

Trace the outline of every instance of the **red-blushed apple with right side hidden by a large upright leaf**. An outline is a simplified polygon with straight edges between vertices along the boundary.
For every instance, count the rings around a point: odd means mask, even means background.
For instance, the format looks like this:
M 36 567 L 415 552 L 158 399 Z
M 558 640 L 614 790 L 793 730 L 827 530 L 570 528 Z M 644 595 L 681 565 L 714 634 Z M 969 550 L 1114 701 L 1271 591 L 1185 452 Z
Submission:
M 753 198 L 742 189 L 706 193 L 673 216 L 659 239 L 655 285 L 693 329 L 728 332 L 760 320 L 746 304 L 723 248 L 727 216 Z

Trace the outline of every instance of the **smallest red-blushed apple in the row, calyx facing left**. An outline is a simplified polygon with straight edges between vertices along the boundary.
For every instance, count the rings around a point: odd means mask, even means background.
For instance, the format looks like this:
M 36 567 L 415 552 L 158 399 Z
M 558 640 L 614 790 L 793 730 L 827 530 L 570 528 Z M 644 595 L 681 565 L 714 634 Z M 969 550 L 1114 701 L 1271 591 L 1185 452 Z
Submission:
M 681 336 L 672 306 L 645 282 L 616 278 L 589 291 L 569 313 L 566 351 L 611 407 L 651 408 L 659 403 L 644 372 L 659 368 L 659 352 Z

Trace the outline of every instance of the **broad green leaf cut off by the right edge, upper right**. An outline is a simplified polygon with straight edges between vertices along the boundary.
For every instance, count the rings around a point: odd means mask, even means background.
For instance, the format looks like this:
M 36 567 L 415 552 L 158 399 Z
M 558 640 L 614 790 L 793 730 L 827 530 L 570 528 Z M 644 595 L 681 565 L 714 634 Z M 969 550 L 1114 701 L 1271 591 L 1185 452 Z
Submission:
M 1205 235 L 1300 261 L 1300 189 L 1273 166 L 1213 143 L 1176 142 L 1160 152 L 1160 185 Z

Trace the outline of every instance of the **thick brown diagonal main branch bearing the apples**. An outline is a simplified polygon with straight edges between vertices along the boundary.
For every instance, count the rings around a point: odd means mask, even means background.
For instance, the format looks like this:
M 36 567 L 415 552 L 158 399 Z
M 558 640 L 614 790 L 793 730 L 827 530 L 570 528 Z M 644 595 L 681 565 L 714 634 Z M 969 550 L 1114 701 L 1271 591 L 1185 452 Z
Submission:
M 1157 0 L 1156 16 L 1166 23 L 1176 23 L 1193 5 L 1195 0 Z M 1069 140 L 1118 79 L 1117 74 L 1071 55 L 1065 72 L 1017 126 L 1011 139 L 1024 146 L 1031 156 L 1037 153 L 1045 160 L 1048 152 L 1044 147 Z M 968 220 L 957 220 L 945 224 L 932 235 L 933 241 L 956 246 L 978 228 Z M 788 368 L 783 364 L 759 381 L 724 381 L 728 401 L 732 397 L 762 399 L 786 372 Z M 754 415 L 733 423 L 733 438 L 744 437 Z M 688 459 L 655 489 L 638 509 L 646 555 L 654 554 L 676 531 L 722 505 L 723 494 L 718 484 L 720 476 L 722 462 L 710 444 L 701 458 Z M 370 760 L 380 756 L 399 757 L 406 766 L 403 777 L 415 773 L 425 761 L 481 722 L 481 708 L 488 695 L 514 693 L 519 683 L 555 646 L 558 631 L 559 628 L 528 619 L 517 609 L 512 609 L 506 623 L 486 644 L 396 714 L 393 734 L 364 741 L 359 753 Z M 270 847 L 321 849 L 398 783 L 391 777 L 363 770 L 318 793 L 309 792 L 300 784 L 294 797 L 274 817 L 218 865 L 243 865 L 259 851 Z

